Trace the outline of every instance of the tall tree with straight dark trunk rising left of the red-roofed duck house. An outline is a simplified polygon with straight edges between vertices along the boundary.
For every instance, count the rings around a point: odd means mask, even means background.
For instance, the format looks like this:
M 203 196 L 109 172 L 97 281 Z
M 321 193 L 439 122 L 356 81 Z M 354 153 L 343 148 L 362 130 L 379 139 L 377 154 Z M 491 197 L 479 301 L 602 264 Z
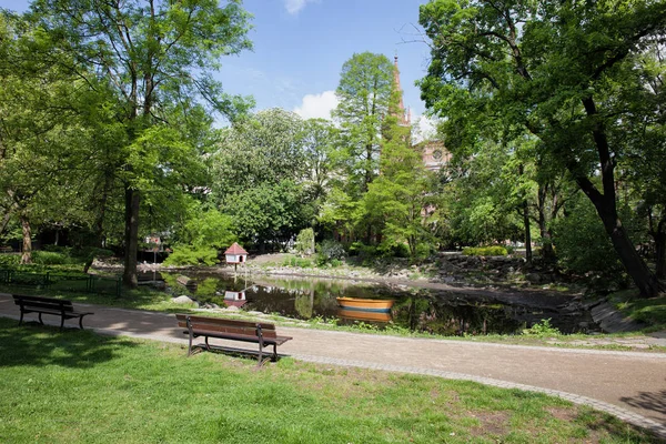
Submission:
M 124 189 L 123 282 L 135 286 L 140 209 L 152 181 L 143 174 L 169 171 L 160 148 L 167 135 L 180 140 L 169 129 L 173 113 L 188 113 L 200 99 L 228 115 L 244 110 L 245 102 L 223 94 L 211 72 L 220 57 L 250 48 L 249 16 L 238 0 L 38 0 L 32 13 L 51 39 L 44 58 L 65 64 L 91 88 L 102 82 L 113 91 L 115 118 L 127 134 L 115 165 Z

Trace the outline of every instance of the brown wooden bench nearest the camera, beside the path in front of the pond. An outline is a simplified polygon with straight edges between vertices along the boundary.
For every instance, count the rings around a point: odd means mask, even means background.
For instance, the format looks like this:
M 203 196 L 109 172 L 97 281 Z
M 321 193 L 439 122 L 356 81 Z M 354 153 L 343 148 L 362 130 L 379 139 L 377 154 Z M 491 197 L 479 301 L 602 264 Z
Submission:
M 292 339 L 289 336 L 279 336 L 278 332 L 275 331 L 275 325 L 264 322 L 235 321 L 222 317 L 193 316 L 190 314 L 176 314 L 175 317 L 178 319 L 178 326 L 186 329 L 183 331 L 183 333 L 190 336 L 188 356 L 192 354 L 192 341 L 194 337 L 203 336 L 205 339 L 205 345 L 200 344 L 194 345 L 194 347 L 202 347 L 208 351 L 211 351 L 211 349 L 218 349 L 222 351 L 244 352 L 252 354 L 255 354 L 256 352 L 219 346 L 211 347 L 209 344 L 209 337 L 254 342 L 259 344 L 259 363 L 256 366 L 261 366 L 268 360 L 276 361 L 278 345 L 282 345 Z M 264 347 L 270 345 L 273 345 L 273 353 L 269 352 L 269 356 L 264 359 Z

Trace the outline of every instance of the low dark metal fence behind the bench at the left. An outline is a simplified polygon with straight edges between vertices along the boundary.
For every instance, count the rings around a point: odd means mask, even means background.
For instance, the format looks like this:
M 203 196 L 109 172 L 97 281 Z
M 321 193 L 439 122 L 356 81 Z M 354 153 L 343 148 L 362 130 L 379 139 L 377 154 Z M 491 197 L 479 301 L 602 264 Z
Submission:
M 49 290 L 64 290 L 84 293 L 112 294 L 120 296 L 121 278 L 103 278 L 92 274 L 73 275 L 60 273 L 29 273 L 16 270 L 0 270 L 0 282 L 16 286 L 36 286 Z

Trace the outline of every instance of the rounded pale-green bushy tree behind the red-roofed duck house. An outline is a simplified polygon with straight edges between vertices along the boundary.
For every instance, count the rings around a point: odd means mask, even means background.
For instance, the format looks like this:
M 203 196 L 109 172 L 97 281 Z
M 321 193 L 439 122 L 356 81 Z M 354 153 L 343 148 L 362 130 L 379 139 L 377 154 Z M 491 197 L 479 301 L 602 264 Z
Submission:
M 213 201 L 246 242 L 281 248 L 315 220 L 312 161 L 301 118 L 272 109 L 221 132 L 213 155 Z

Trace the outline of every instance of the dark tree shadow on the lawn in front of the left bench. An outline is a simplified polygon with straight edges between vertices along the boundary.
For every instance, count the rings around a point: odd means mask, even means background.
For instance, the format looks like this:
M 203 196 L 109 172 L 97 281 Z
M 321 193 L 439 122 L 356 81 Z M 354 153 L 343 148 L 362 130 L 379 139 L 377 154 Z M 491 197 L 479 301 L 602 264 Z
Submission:
M 137 343 L 122 337 L 100 336 L 90 331 L 40 325 L 0 319 L 0 367 L 59 365 L 90 369 L 113 360 L 121 347 Z

